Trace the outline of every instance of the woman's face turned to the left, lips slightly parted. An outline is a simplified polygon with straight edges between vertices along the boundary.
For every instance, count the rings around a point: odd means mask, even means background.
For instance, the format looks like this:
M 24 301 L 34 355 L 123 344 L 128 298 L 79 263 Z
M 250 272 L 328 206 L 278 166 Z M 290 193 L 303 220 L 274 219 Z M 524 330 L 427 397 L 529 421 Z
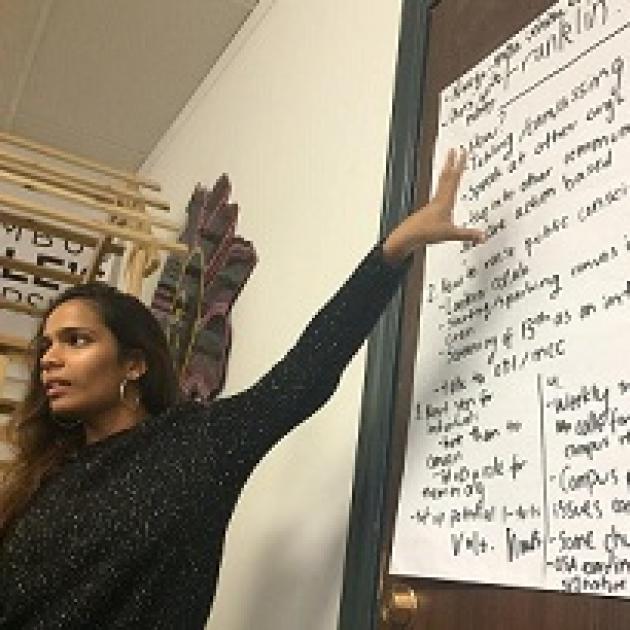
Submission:
M 72 299 L 50 313 L 42 331 L 41 380 L 50 409 L 86 421 L 116 412 L 130 362 L 89 302 Z

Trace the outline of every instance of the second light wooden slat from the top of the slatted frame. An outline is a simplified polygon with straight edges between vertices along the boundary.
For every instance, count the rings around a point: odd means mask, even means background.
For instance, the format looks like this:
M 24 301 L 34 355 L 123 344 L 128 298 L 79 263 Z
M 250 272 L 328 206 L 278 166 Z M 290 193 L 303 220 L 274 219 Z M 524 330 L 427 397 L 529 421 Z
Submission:
M 118 188 L 111 184 L 96 182 L 85 177 L 69 173 L 50 165 L 39 164 L 19 157 L 6 151 L 0 151 L 0 163 L 6 170 L 16 175 L 28 176 L 47 184 L 61 186 L 71 192 L 90 195 L 97 201 L 104 203 L 116 203 L 120 200 L 129 200 L 132 203 L 146 203 L 146 205 L 168 212 L 169 204 L 157 197 L 143 195 L 139 191 L 132 192 L 129 189 Z

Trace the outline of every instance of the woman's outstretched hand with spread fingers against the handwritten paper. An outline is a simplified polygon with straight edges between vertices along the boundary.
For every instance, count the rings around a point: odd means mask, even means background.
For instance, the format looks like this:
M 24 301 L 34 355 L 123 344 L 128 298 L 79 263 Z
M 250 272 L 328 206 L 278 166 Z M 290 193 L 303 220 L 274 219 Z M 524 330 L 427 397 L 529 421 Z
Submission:
M 480 243 L 481 230 L 457 227 L 453 224 L 453 206 L 457 188 L 464 172 L 466 153 L 454 149 L 448 152 L 440 173 L 435 195 L 426 206 L 414 211 L 400 223 L 383 243 L 383 255 L 389 263 L 402 262 L 422 245 L 443 241 L 474 241 Z

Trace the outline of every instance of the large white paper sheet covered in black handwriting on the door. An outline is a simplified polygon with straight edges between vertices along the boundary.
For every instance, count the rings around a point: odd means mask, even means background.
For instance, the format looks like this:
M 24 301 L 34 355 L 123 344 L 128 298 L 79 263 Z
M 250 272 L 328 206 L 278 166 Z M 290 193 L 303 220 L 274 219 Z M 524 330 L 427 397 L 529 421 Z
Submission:
M 441 94 L 391 572 L 630 596 L 630 2 L 563 0 Z

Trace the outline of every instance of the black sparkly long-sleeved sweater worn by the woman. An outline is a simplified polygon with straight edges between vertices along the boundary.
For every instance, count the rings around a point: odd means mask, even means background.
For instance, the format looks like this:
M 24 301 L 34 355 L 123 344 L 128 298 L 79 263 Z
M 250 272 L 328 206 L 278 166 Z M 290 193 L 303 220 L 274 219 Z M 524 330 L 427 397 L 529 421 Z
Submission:
M 375 247 L 260 381 L 83 447 L 0 549 L 2 630 L 198 630 L 256 464 L 334 392 L 395 292 Z

